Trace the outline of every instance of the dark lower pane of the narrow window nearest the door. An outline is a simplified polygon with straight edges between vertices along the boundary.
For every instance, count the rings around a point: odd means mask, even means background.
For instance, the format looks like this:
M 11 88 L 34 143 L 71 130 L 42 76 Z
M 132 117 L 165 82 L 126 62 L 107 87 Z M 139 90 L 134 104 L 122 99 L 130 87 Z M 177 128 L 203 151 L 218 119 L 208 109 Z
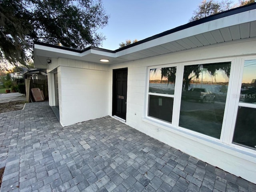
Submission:
M 148 116 L 172 122 L 173 98 L 149 95 Z

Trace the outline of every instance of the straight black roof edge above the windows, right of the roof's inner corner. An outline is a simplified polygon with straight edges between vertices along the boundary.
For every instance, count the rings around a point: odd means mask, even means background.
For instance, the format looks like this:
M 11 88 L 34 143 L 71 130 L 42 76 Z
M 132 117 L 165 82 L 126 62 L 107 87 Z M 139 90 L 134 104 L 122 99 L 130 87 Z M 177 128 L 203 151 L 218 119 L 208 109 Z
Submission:
M 256 9 L 256 3 L 252 3 L 252 4 L 245 5 L 245 6 L 230 9 L 230 10 L 227 10 L 227 11 L 224 11 L 224 12 L 220 12 L 220 13 L 217 13 L 217 14 L 199 19 L 199 20 L 192 21 L 192 22 L 189 22 L 189 23 L 181 25 L 181 26 L 178 26 L 178 27 L 173 28 L 171 30 L 167 30 L 165 32 L 156 34 L 154 36 L 151 36 L 151 37 L 148 37 L 146 39 L 140 40 L 138 42 L 132 43 L 132 44 L 127 45 L 125 47 L 119 48 L 119 49 L 116 50 L 116 52 L 125 50 L 127 48 L 130 48 L 130 47 L 133 47 L 133 46 L 136 46 L 136 45 L 139 45 L 139 44 L 142 44 L 142 43 L 145 43 L 145 42 L 148 42 L 148 41 L 151 41 L 151 40 L 154 40 L 154 39 L 157 39 L 157 38 L 160 38 L 160 37 L 163 37 L 163 36 L 178 32 L 178 31 L 181 31 L 181 30 L 184 30 L 184 29 L 196 26 L 196 25 L 200 25 L 200 24 L 203 24 L 203 23 L 206 23 L 206 22 L 210 22 L 210 21 L 213 21 L 213 20 L 216 20 L 216 19 L 224 18 L 226 16 L 231 16 L 231 15 L 234 15 L 234 14 L 246 12 L 246 11 L 253 10 L 253 9 Z

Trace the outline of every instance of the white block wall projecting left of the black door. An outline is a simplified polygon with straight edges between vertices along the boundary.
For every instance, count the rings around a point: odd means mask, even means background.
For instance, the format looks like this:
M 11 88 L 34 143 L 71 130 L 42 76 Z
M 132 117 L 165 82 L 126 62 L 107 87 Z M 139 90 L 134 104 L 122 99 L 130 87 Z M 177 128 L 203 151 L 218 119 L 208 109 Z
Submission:
M 58 58 L 52 66 L 58 70 L 62 126 L 108 115 L 107 65 Z

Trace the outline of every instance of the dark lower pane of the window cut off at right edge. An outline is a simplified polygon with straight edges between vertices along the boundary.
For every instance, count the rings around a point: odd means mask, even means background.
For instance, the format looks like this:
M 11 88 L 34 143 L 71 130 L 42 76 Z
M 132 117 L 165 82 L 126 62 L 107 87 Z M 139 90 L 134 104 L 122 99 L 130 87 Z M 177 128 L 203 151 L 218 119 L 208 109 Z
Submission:
M 256 149 L 256 109 L 238 108 L 233 142 Z

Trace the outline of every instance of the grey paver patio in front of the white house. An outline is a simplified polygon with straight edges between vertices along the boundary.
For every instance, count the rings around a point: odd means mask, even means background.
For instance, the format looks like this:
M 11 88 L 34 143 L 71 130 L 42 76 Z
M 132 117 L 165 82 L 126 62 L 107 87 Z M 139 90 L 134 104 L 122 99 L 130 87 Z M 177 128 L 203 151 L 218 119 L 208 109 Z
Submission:
M 4 166 L 2 192 L 256 191 L 109 116 L 63 128 L 48 102 L 0 114 Z

